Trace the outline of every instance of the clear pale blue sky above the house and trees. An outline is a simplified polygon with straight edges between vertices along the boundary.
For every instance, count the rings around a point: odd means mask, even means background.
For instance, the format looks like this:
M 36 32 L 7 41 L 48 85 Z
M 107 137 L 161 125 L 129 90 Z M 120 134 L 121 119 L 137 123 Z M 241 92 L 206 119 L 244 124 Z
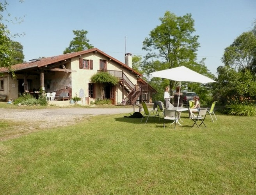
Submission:
M 224 49 L 251 30 L 256 0 L 9 0 L 7 11 L 24 16 L 23 22 L 7 27 L 12 34 L 25 33 L 13 40 L 23 45 L 26 61 L 62 54 L 74 37 L 72 30 L 84 29 L 89 43 L 124 62 L 125 51 L 146 55 L 142 42 L 166 11 L 191 13 L 199 35 L 197 60 L 205 57 L 216 75 Z

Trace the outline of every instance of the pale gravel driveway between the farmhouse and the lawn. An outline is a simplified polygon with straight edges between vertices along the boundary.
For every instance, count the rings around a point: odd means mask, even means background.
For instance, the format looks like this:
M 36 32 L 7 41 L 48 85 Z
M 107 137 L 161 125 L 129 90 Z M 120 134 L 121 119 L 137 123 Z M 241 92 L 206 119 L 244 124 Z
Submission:
M 38 110 L 0 108 L 2 119 L 20 122 L 15 128 L 10 128 L 10 132 L 2 132 L 0 140 L 19 137 L 40 129 L 75 124 L 85 116 L 119 113 L 129 115 L 128 113 L 133 113 L 133 108 L 49 108 Z

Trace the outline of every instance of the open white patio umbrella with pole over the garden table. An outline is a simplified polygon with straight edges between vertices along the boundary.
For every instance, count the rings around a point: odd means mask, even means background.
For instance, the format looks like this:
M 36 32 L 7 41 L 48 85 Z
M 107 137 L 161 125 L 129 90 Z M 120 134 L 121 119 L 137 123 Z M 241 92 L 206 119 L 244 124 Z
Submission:
M 199 74 L 195 71 L 192 71 L 191 69 L 180 66 L 170 69 L 165 69 L 162 71 L 156 71 L 153 73 L 150 73 L 153 77 L 159 77 L 159 78 L 167 78 L 174 81 L 180 82 L 180 89 L 181 89 L 181 82 L 196 82 L 196 83 L 212 83 L 216 82 L 212 80 L 211 78 L 204 76 L 203 74 Z M 180 91 L 179 91 L 180 94 Z M 180 96 L 178 97 L 178 106 L 179 106 Z

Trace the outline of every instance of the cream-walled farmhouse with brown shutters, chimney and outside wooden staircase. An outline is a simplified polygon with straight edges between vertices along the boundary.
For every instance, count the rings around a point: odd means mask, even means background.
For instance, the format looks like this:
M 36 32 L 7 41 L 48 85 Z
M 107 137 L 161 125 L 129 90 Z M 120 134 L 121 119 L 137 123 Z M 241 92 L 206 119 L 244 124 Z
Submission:
M 40 88 L 45 92 L 56 92 L 56 96 L 66 92 L 71 99 L 78 96 L 85 104 L 101 99 L 100 84 L 93 83 L 91 76 L 98 71 L 106 71 L 118 78 L 116 86 L 105 86 L 104 98 L 112 104 L 133 105 L 141 101 L 151 102 L 153 89 L 142 75 L 132 69 L 132 54 L 125 54 L 125 64 L 92 48 L 85 51 L 67 53 L 54 57 L 30 60 L 30 62 L 12 66 L 16 78 L 9 70 L 0 68 L 0 96 L 16 99 L 19 94 L 28 91 L 35 94 Z

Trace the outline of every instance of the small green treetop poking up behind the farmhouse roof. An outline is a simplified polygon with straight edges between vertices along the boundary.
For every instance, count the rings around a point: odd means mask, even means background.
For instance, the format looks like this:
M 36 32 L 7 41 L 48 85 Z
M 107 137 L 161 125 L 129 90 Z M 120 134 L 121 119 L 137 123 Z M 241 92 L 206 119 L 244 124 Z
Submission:
M 73 30 L 73 33 L 75 34 L 75 38 L 70 41 L 69 47 L 63 51 L 64 54 L 93 48 L 93 46 L 89 44 L 89 39 L 86 38 L 88 33 L 86 30 Z

